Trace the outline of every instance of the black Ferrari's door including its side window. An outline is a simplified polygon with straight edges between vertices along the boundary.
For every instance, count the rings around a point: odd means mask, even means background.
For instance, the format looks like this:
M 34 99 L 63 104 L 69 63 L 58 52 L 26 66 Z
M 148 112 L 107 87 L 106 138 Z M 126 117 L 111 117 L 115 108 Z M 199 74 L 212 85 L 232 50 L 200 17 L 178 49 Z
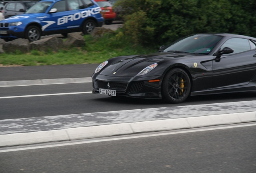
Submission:
M 222 46 L 234 50 L 213 61 L 213 88 L 248 84 L 256 73 L 255 44 L 244 38 L 231 38 Z

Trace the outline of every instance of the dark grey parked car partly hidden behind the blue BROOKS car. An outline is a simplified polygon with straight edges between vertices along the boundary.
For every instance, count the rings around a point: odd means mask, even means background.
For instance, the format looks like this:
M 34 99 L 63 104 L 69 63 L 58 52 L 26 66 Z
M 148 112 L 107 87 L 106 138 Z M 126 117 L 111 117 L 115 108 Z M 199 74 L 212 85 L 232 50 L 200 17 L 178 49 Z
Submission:
M 36 1 L 12 1 L 5 4 L 2 13 L 5 18 L 25 13 Z

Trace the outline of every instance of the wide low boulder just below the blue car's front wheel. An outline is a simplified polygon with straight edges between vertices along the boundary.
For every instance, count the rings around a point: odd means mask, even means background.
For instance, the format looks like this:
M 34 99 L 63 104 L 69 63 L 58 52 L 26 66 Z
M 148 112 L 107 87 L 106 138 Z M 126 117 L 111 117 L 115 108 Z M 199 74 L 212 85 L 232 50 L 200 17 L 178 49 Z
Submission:
M 39 51 L 58 51 L 59 48 L 63 47 L 63 40 L 57 37 L 43 38 L 41 40 L 33 41 L 29 44 L 29 50 Z

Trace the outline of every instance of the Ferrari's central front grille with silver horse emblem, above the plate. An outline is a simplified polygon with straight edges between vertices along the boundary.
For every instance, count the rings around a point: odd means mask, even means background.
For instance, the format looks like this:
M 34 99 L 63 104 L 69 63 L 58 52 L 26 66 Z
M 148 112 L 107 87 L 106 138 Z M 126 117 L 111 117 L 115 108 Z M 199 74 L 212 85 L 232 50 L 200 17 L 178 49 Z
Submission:
M 127 87 L 127 82 L 105 82 L 98 80 L 98 87 L 101 89 L 111 89 L 116 91 L 125 91 Z

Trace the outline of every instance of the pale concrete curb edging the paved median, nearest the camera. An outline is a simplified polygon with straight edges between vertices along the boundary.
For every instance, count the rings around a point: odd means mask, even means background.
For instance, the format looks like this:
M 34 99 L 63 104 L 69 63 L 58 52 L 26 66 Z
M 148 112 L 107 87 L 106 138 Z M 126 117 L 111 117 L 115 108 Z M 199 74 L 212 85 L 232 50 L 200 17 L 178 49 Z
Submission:
M 0 147 L 256 121 L 256 111 L 0 135 Z

